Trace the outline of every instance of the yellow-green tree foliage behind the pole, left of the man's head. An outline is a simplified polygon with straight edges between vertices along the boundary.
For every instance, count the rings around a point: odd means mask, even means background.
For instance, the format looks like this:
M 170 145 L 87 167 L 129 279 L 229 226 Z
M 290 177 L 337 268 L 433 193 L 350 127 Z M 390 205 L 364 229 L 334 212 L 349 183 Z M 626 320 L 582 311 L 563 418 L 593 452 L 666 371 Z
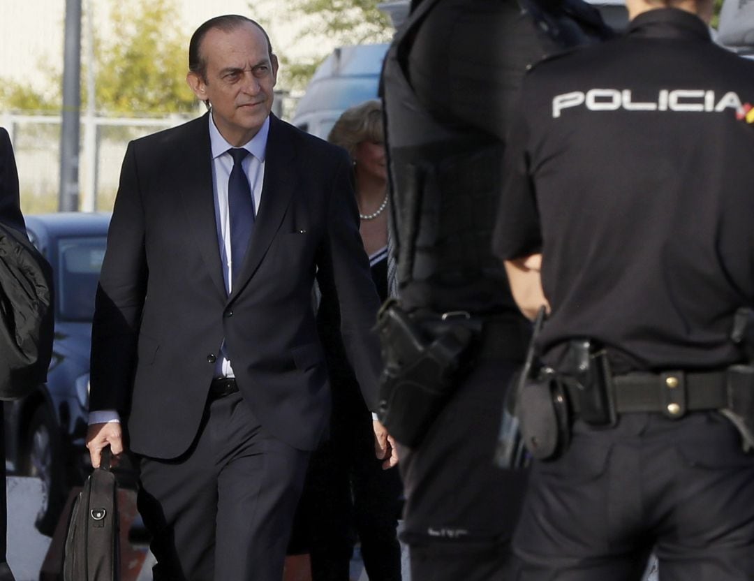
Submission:
M 103 4 L 100 4 L 102 6 Z M 115 115 L 164 114 L 194 109 L 194 94 L 185 83 L 188 38 L 175 0 L 112 2 L 108 39 L 95 32 L 95 109 Z M 82 62 L 82 106 L 87 95 Z M 28 112 L 60 111 L 60 69 L 48 73 L 51 89 L 41 93 L 22 83 L 0 79 L 0 103 Z

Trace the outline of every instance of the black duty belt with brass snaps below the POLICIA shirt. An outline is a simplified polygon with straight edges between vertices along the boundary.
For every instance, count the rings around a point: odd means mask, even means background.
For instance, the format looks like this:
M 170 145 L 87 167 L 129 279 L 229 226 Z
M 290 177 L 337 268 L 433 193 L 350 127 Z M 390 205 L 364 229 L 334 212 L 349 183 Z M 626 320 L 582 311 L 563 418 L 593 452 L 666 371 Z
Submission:
M 578 413 L 578 386 L 566 379 L 570 403 Z M 611 378 L 612 401 L 616 413 L 662 412 L 679 418 L 688 411 L 719 410 L 728 407 L 728 373 L 665 371 L 661 374 L 635 373 Z

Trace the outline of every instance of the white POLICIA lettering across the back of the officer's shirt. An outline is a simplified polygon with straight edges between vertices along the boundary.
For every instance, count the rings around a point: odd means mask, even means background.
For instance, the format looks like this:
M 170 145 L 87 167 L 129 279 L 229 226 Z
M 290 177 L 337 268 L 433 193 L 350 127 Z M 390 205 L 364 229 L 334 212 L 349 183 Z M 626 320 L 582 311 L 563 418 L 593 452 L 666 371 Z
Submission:
M 676 111 L 676 112 L 722 112 L 734 109 L 744 114 L 743 104 L 733 91 L 725 93 L 716 102 L 715 91 L 704 89 L 661 89 L 654 101 L 633 101 L 630 89 L 590 89 L 571 91 L 553 97 L 553 118 L 562 115 L 563 109 L 584 105 L 590 111 Z

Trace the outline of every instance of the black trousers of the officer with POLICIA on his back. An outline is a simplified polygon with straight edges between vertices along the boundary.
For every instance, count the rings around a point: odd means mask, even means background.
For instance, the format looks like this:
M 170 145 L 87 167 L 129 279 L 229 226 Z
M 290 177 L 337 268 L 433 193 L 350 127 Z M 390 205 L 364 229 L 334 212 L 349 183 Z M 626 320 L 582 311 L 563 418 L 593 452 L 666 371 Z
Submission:
M 577 421 L 558 460 L 532 466 L 513 541 L 520 581 L 754 579 L 754 454 L 719 413 Z

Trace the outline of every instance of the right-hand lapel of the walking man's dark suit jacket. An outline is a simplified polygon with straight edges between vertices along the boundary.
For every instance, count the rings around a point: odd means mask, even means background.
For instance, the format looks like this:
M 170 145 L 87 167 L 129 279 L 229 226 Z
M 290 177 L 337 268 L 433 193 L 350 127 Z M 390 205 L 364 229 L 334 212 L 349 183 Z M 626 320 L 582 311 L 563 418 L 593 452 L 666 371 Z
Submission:
M 270 133 L 267 137 L 265 153 L 265 180 L 262 183 L 262 202 L 256 213 L 254 232 L 251 235 L 249 249 L 244 258 L 244 266 L 234 284 L 231 299 L 241 292 L 253 276 L 259 263 L 267 253 L 272 240 L 280 229 L 280 223 L 286 214 L 290 199 L 298 183 L 298 174 L 293 171 L 295 152 L 289 129 L 270 115 Z

